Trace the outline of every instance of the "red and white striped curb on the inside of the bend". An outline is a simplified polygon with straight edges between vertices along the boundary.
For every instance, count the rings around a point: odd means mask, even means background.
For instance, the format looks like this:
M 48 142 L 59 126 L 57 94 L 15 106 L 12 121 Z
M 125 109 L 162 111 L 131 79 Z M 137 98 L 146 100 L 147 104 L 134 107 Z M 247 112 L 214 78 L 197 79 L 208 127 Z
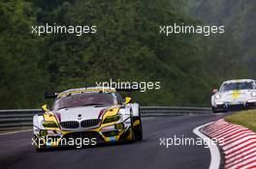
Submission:
M 246 127 L 223 119 L 201 127 L 211 139 L 221 140 L 219 146 L 225 155 L 226 169 L 256 168 L 256 133 Z

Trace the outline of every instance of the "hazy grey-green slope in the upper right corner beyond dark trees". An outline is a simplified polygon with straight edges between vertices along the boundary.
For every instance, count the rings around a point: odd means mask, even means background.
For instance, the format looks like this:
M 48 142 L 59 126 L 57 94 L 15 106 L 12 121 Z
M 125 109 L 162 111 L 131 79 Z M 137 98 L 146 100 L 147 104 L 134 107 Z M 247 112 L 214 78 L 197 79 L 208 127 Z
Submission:
M 256 1 L 189 0 L 188 14 L 206 23 L 224 24 L 228 34 L 240 46 L 241 57 L 256 70 Z M 254 76 L 255 77 L 255 76 Z

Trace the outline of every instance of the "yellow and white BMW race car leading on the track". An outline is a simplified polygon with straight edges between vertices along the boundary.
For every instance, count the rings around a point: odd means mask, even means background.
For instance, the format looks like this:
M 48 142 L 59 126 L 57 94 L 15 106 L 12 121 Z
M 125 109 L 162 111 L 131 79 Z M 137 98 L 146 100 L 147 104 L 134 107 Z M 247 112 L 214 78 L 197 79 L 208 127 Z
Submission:
M 143 139 L 140 105 L 121 99 L 113 88 L 80 88 L 55 97 L 52 108 L 33 118 L 37 151 L 54 147 L 84 147 Z

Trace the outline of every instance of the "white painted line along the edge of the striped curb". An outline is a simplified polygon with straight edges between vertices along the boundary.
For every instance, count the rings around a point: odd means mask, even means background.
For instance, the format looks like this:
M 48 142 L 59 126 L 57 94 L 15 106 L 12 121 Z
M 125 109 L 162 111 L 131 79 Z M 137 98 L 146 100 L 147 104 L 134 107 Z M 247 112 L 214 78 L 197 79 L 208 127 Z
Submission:
M 212 123 L 208 123 L 206 125 L 203 125 L 201 127 L 194 128 L 193 132 L 202 138 L 203 140 L 208 140 L 208 136 L 200 132 L 200 128 L 206 127 Z M 208 169 L 218 169 L 220 167 L 220 153 L 217 145 L 210 144 L 210 142 L 206 142 L 208 144 L 209 152 L 210 152 L 210 163 Z

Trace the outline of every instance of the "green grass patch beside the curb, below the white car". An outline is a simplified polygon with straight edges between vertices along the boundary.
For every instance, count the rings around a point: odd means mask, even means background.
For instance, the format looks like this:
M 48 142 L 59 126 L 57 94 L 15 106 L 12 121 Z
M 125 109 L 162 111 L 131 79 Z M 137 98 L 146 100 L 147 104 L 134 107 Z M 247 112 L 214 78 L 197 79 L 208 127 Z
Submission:
M 256 132 L 256 110 L 241 111 L 227 116 L 225 121 L 247 127 Z

